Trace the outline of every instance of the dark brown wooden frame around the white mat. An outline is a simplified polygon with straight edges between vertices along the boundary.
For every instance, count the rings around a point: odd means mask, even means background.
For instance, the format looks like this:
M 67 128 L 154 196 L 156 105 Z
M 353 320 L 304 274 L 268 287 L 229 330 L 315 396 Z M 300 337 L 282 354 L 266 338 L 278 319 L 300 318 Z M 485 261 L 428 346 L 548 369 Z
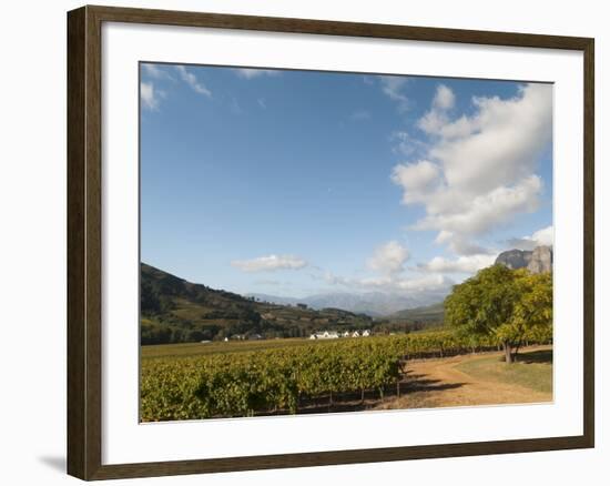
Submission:
M 434 42 L 582 51 L 584 58 L 584 423 L 583 435 L 102 465 L 101 340 L 101 26 L 102 22 L 245 29 Z M 538 36 L 264 18 L 217 13 L 83 7 L 68 13 L 68 473 L 82 479 L 164 476 L 281 467 L 587 448 L 594 446 L 593 323 L 593 62 L 589 38 Z

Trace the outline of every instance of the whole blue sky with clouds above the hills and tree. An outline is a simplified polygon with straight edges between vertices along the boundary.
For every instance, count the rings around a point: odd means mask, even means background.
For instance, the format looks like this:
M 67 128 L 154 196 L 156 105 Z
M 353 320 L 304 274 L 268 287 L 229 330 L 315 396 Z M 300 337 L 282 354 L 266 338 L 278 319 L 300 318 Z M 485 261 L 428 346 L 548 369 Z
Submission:
M 552 87 L 141 64 L 142 261 L 214 288 L 443 292 L 552 243 Z

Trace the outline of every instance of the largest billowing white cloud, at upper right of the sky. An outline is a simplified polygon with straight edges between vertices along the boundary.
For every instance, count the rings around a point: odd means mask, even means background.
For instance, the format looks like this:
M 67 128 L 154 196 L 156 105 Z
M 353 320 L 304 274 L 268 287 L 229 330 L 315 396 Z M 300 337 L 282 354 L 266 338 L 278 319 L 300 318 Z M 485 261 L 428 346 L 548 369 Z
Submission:
M 551 140 L 552 88 L 526 84 L 511 99 L 475 98 L 474 112 L 450 119 L 455 95 L 439 85 L 418 126 L 429 135 L 423 160 L 394 168 L 404 204 L 426 215 L 413 227 L 438 231 L 457 254 L 481 252 L 472 239 L 536 211 L 542 181 L 535 174 Z

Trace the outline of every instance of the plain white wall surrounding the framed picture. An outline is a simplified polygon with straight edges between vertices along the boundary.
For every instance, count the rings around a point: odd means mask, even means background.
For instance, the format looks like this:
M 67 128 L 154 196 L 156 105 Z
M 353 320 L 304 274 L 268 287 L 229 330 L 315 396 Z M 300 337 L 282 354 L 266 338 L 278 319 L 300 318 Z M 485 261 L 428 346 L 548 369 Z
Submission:
M 602 356 L 608 305 L 602 284 L 608 257 L 608 152 L 610 130 L 608 14 L 604 2 L 376 0 L 301 2 L 260 0 L 96 2 L 124 7 L 303 17 L 414 26 L 510 30 L 596 38 L 597 50 L 597 342 L 598 411 L 608 405 L 601 388 L 609 360 Z M 4 2 L 0 36 L 0 478 L 4 484 L 75 483 L 64 475 L 65 443 L 65 11 L 77 1 Z M 606 87 L 604 87 L 606 84 Z M 603 184 L 606 182 L 606 184 Z M 610 431 L 598 412 L 594 450 L 521 454 L 317 467 L 293 470 L 190 476 L 118 482 L 186 485 L 349 485 L 451 484 L 528 485 L 602 484 L 608 476 Z M 510 424 L 507 424 L 510 426 Z M 295 439 L 298 439 L 295 437 Z M 606 459 L 608 460 L 608 459 Z M 607 478 L 606 478 L 607 480 Z

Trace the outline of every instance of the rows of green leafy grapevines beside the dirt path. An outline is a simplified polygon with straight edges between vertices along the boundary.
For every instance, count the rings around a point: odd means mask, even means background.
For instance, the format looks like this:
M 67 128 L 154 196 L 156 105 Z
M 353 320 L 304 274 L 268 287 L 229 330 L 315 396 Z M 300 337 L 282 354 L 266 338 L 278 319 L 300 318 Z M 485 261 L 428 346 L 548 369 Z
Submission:
M 374 391 L 383 397 L 413 358 L 496 350 L 449 331 L 338 340 L 242 353 L 144 357 L 141 419 L 298 413 L 303 403 Z

